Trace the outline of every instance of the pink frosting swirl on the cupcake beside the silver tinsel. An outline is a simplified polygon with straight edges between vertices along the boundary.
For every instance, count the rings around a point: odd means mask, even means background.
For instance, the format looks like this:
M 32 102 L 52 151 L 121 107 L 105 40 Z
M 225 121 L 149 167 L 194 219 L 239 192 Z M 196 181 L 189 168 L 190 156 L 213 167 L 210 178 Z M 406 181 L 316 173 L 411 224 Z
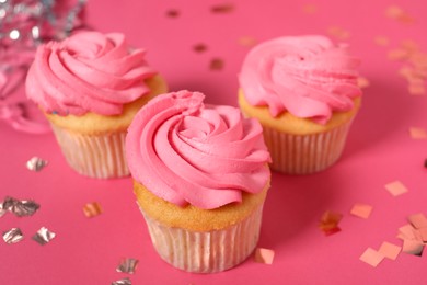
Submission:
M 149 92 L 143 80 L 153 75 L 145 50 L 131 49 L 123 34 L 81 32 L 37 48 L 26 94 L 47 113 L 116 115 Z

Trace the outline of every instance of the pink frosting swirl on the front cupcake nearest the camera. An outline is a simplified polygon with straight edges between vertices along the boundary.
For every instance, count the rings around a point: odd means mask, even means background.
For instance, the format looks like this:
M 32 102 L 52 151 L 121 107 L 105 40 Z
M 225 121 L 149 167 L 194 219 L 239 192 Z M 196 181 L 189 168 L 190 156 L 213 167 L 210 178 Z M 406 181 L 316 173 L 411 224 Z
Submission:
M 132 178 L 157 196 L 211 209 L 259 193 L 270 159 L 257 121 L 204 99 L 180 91 L 151 100 L 128 129 L 126 153 Z

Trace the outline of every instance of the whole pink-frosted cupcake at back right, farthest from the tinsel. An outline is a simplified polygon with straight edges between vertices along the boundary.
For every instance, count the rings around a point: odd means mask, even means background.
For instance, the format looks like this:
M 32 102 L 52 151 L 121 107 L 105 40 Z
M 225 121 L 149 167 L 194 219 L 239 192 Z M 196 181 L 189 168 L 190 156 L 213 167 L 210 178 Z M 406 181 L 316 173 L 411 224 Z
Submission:
M 318 35 L 274 38 L 247 54 L 239 105 L 263 125 L 273 170 L 308 174 L 338 160 L 360 107 L 358 65 L 347 45 Z

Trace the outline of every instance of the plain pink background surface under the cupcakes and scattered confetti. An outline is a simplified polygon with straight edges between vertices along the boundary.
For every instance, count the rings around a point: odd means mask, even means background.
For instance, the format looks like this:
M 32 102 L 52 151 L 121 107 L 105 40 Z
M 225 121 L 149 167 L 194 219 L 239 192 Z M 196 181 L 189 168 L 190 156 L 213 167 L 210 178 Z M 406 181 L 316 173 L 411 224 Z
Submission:
M 231 3 L 230 13 L 210 7 Z M 303 12 L 314 4 L 316 12 Z M 397 4 L 414 19 L 402 23 L 385 16 Z M 175 9 L 178 16 L 168 18 Z M 424 52 L 427 37 L 424 1 L 106 1 L 91 0 L 86 22 L 102 32 L 123 32 L 129 43 L 146 47 L 148 60 L 166 78 L 171 90 L 201 91 L 209 103 L 236 105 L 240 65 L 249 47 L 238 39 L 280 35 L 326 34 L 331 26 L 350 33 L 348 43 L 362 58 L 362 76 L 370 81 L 363 105 L 349 134 L 342 159 L 331 169 L 307 176 L 273 174 L 259 247 L 275 250 L 272 265 L 252 258 L 218 274 L 197 275 L 173 269 L 154 252 L 135 204 L 131 180 L 92 180 L 74 173 L 51 134 L 30 135 L 0 122 L 0 200 L 32 198 L 42 205 L 32 217 L 8 214 L 0 231 L 19 227 L 24 240 L 0 241 L 1 284 L 111 284 L 129 277 L 132 284 L 426 284 L 427 254 L 401 253 L 378 267 L 359 261 L 368 248 L 383 241 L 401 246 L 397 228 L 415 213 L 427 214 L 427 140 L 414 140 L 411 126 L 427 128 L 427 96 L 409 95 L 397 75 L 401 62 L 386 54 L 403 39 Z M 389 46 L 374 43 L 386 36 Z M 203 43 L 205 53 L 193 46 Z M 221 58 L 222 70 L 210 70 Z M 22 92 L 22 90 L 21 90 Z M 16 96 L 19 96 L 18 94 Z M 33 156 L 48 160 L 41 172 L 25 162 Z M 400 180 L 408 193 L 391 196 L 384 184 Z M 86 218 L 82 207 L 99 202 L 103 214 Z M 349 214 L 355 203 L 373 206 L 368 219 Z M 326 237 L 318 228 L 325 210 L 344 215 L 342 231 Z M 56 232 L 48 244 L 31 237 L 45 226 Z M 117 273 L 123 258 L 139 260 L 135 274 Z

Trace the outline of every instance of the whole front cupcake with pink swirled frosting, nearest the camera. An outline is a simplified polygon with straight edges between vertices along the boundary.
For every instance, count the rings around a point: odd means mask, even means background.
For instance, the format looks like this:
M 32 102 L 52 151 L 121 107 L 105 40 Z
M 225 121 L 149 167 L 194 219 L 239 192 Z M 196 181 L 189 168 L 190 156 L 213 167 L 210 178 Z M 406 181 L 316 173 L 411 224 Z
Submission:
M 270 172 L 259 123 L 204 98 L 180 91 L 151 100 L 129 127 L 126 153 L 159 255 L 214 273 L 257 244 Z

